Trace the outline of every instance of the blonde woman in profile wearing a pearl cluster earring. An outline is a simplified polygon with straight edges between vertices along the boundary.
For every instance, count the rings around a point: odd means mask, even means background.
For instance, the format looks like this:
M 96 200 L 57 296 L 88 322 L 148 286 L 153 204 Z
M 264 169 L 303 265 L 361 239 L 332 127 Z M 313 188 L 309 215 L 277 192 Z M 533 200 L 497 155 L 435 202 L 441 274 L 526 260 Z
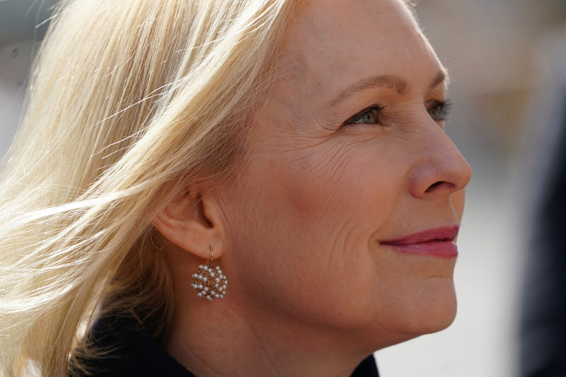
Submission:
M 64 1 L 1 181 L 2 370 L 376 375 L 456 313 L 446 81 L 400 0 Z

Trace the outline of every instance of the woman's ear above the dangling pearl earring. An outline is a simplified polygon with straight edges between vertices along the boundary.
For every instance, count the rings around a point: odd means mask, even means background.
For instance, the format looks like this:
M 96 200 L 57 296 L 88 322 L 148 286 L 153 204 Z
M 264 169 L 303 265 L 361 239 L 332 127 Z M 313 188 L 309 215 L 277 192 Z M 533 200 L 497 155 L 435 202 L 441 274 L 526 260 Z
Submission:
M 187 192 L 168 204 L 154 219 L 156 229 L 171 243 L 204 260 L 224 254 L 216 202 L 207 195 Z

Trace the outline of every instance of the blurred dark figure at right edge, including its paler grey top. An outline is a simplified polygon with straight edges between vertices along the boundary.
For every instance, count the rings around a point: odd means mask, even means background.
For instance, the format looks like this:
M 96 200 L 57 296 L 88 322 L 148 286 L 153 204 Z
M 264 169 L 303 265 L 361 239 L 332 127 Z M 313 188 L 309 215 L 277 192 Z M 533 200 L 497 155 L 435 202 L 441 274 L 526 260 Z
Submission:
M 534 114 L 537 132 L 531 139 L 537 142 L 529 182 L 536 188 L 536 199 L 521 311 L 521 377 L 566 376 L 565 37 L 542 55 L 553 81 L 544 86 Z

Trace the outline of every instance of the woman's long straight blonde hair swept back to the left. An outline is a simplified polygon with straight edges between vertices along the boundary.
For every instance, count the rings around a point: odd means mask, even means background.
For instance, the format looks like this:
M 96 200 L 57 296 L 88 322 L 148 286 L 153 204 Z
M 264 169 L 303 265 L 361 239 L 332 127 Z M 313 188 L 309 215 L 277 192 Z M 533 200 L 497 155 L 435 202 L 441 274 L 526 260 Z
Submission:
M 60 2 L 0 177 L 1 374 L 79 368 L 101 313 L 166 331 L 151 219 L 244 161 L 290 14 L 286 0 Z

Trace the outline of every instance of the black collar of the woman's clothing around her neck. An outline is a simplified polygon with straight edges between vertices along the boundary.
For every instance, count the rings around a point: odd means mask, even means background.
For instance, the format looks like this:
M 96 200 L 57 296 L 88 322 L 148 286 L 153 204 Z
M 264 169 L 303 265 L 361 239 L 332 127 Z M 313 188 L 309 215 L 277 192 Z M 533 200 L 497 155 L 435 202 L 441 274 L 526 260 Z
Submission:
M 195 377 L 173 359 L 133 318 L 99 320 L 91 332 L 96 347 L 112 351 L 99 359 L 83 360 L 94 377 Z M 79 374 L 79 376 L 87 376 Z M 357 366 L 352 377 L 379 377 L 373 355 Z

